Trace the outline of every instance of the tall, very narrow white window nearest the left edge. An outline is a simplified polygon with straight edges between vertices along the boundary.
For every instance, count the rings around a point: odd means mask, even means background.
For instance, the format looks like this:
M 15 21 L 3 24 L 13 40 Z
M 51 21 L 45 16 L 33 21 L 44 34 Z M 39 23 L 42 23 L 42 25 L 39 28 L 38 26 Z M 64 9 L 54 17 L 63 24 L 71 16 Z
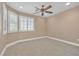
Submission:
M 3 35 L 7 33 L 7 8 L 3 4 Z

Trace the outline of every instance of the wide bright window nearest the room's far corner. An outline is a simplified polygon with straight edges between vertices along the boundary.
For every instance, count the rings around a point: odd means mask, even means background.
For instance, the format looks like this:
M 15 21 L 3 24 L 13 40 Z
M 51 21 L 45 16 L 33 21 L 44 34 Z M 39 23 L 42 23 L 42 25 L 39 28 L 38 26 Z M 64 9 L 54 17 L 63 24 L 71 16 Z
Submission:
M 20 31 L 33 31 L 34 20 L 31 17 L 20 16 Z

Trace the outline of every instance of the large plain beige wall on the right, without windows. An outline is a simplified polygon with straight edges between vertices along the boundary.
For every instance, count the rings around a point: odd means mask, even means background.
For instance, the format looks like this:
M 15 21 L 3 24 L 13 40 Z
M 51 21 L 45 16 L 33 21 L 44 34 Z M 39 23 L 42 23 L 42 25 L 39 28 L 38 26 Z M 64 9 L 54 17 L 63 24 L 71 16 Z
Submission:
M 48 35 L 76 41 L 79 39 L 79 6 L 48 18 Z

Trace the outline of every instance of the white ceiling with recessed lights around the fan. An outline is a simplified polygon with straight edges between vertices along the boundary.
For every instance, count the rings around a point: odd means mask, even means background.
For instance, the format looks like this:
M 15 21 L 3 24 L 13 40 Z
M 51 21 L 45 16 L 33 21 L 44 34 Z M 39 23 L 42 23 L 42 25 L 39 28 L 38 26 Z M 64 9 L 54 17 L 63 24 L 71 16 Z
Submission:
M 79 2 L 70 2 L 71 4 L 69 6 L 66 6 L 66 3 L 67 2 L 7 2 L 10 7 L 29 14 L 33 14 L 35 12 L 35 7 L 41 8 L 41 5 L 52 5 L 53 8 L 51 8 L 50 11 L 53 11 L 53 14 L 45 14 L 45 17 L 58 14 L 79 5 Z M 33 15 L 40 16 L 40 13 Z

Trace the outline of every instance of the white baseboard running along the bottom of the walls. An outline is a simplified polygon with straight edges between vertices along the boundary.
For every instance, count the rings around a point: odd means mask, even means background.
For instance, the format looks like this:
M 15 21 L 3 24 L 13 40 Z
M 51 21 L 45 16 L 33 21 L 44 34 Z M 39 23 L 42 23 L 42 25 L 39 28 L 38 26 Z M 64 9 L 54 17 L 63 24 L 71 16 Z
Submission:
M 37 40 L 37 39 L 41 39 L 41 38 L 49 38 L 49 39 L 52 39 L 52 40 L 56 40 L 56 41 L 59 41 L 59 42 L 63 42 L 63 43 L 66 43 L 66 44 L 70 44 L 70 45 L 79 47 L 79 44 L 77 44 L 77 43 L 73 43 L 73 42 L 70 42 L 70 41 L 66 41 L 66 40 L 63 40 L 63 39 L 58 39 L 58 38 L 54 38 L 54 37 L 50 37 L 50 36 L 43 36 L 43 37 L 36 37 L 36 38 L 17 40 L 17 41 L 14 41 L 12 43 L 9 43 L 9 44 L 7 44 L 4 47 L 4 49 L 2 50 L 0 56 L 2 56 L 5 53 L 6 49 L 8 47 L 12 46 L 12 45 L 15 45 L 15 44 L 18 44 L 18 43 L 21 43 L 21 42 L 26 42 L 26 41 L 31 41 L 31 40 Z

